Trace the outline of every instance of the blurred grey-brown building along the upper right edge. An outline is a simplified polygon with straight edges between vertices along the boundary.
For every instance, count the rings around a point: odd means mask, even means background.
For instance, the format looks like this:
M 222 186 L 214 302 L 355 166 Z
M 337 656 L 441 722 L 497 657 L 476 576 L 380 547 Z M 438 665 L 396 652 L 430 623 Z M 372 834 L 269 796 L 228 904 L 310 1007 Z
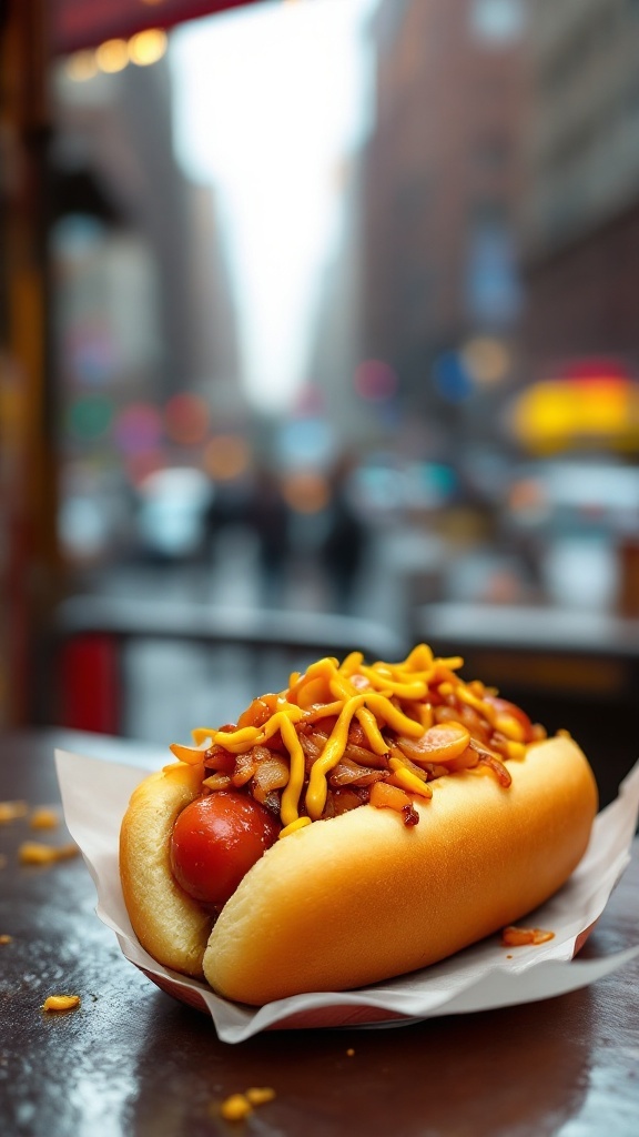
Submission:
M 522 241 L 532 375 L 613 356 L 639 373 L 639 3 L 529 5 Z

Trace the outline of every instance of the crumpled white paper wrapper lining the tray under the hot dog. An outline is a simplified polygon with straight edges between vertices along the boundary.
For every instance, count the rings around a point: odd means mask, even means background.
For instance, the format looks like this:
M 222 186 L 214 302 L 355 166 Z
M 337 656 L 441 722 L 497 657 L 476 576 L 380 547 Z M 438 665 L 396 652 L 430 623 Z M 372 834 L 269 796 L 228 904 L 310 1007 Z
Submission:
M 66 750 L 56 752 L 56 763 L 65 820 L 96 883 L 98 915 L 116 933 L 127 960 L 177 998 L 208 1011 L 218 1037 L 227 1043 L 273 1028 L 399 1026 L 531 1003 L 584 987 L 639 955 L 638 945 L 600 960 L 573 960 L 630 862 L 639 763 L 616 800 L 597 816 L 588 852 L 570 881 L 524 921 L 553 931 L 548 943 L 506 949 L 493 936 L 424 971 L 371 988 L 298 995 L 259 1009 L 230 1003 L 205 984 L 161 968 L 133 933 L 119 886 L 118 835 L 131 792 L 149 770 Z

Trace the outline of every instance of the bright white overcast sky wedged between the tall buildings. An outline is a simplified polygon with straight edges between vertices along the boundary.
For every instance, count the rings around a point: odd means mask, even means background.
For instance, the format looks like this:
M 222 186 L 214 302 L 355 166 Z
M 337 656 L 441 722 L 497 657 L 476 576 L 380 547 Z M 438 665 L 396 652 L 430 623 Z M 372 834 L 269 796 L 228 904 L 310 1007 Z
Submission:
M 285 410 L 309 377 L 341 159 L 368 124 L 365 26 L 376 2 L 276 0 L 172 35 L 177 156 L 219 194 L 246 392 L 265 412 Z

